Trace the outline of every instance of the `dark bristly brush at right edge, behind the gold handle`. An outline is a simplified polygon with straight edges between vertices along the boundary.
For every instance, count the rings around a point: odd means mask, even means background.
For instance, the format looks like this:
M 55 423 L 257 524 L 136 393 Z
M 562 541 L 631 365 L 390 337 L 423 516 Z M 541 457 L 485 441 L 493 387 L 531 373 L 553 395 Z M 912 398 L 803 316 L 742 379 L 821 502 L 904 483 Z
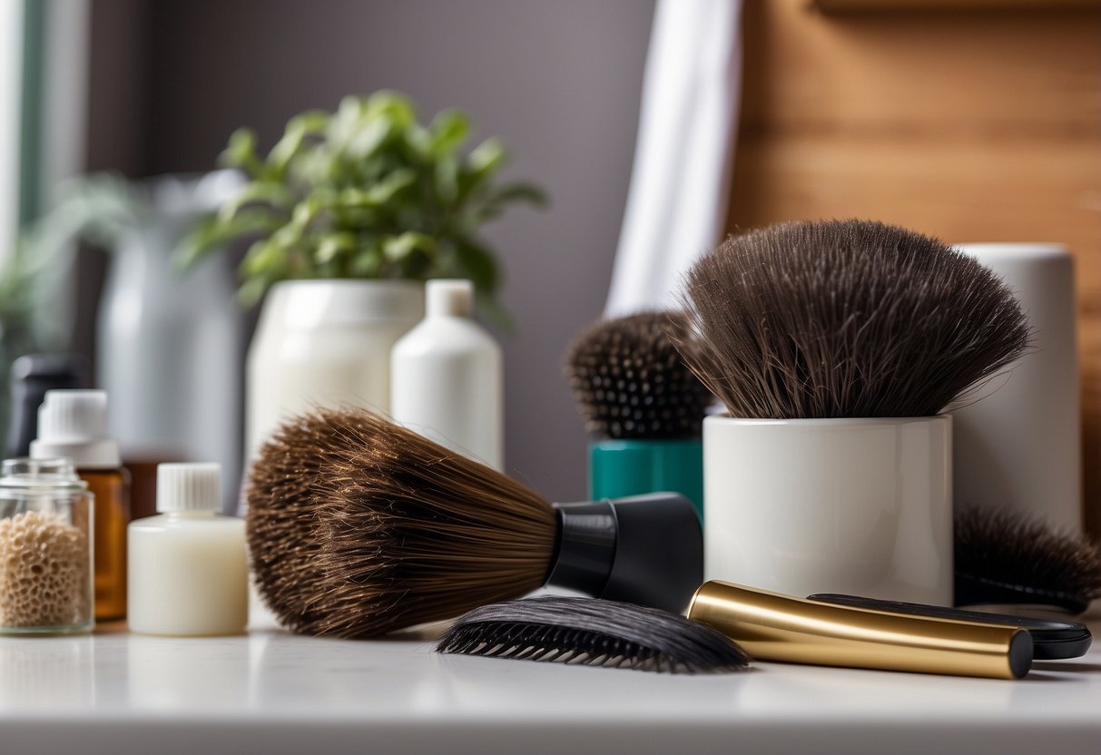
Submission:
M 956 604 L 1053 606 L 1071 614 L 1101 598 L 1101 547 L 1011 512 L 956 513 Z

